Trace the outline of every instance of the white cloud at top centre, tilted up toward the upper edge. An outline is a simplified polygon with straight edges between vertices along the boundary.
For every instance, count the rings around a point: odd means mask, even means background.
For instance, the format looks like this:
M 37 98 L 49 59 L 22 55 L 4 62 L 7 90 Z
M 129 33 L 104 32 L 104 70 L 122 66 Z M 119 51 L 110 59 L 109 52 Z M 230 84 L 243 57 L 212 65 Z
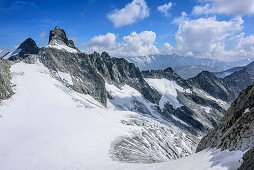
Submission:
M 115 27 L 133 24 L 149 16 L 149 8 L 144 0 L 133 0 L 122 9 L 116 9 L 107 15 Z

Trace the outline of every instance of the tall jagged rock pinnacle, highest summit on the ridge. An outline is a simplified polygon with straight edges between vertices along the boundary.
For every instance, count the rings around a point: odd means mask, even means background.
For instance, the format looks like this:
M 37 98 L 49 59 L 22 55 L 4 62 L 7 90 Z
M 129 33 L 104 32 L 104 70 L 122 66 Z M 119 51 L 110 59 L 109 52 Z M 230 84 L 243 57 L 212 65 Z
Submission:
M 49 45 L 67 45 L 71 48 L 75 48 L 74 42 L 69 40 L 65 31 L 60 27 L 56 26 L 54 30 L 49 33 Z

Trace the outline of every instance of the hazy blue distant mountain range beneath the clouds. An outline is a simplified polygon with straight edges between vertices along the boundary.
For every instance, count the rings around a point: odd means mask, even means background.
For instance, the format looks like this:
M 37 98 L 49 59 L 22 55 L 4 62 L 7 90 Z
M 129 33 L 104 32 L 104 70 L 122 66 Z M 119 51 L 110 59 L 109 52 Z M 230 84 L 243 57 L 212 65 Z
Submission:
M 140 57 L 124 57 L 134 63 L 140 70 L 161 70 L 168 67 L 188 79 L 196 76 L 202 71 L 221 72 L 232 67 L 242 67 L 249 64 L 253 59 L 244 59 L 237 62 L 224 62 L 209 58 L 197 58 L 193 56 L 184 57 L 173 55 L 148 55 Z

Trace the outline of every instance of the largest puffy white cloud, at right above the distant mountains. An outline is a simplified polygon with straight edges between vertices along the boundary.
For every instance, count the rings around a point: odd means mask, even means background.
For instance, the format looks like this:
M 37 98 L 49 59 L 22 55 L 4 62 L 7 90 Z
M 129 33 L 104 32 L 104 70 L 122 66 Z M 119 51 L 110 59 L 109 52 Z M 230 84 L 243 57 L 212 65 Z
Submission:
M 215 17 L 184 21 L 175 35 L 176 53 L 201 58 L 227 60 L 232 51 L 225 50 L 225 41 L 242 29 L 243 20 L 217 21 Z

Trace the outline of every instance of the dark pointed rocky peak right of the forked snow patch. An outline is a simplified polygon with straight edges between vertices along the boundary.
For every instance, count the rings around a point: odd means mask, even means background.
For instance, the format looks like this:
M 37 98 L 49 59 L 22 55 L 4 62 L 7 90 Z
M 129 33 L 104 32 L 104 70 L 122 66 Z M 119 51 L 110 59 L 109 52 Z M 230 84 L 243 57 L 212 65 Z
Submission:
M 199 73 L 196 77 L 188 79 L 188 83 L 204 90 L 211 96 L 224 101 L 232 101 L 235 99 L 235 94 L 228 90 L 227 85 L 222 79 L 217 78 L 208 71 Z

